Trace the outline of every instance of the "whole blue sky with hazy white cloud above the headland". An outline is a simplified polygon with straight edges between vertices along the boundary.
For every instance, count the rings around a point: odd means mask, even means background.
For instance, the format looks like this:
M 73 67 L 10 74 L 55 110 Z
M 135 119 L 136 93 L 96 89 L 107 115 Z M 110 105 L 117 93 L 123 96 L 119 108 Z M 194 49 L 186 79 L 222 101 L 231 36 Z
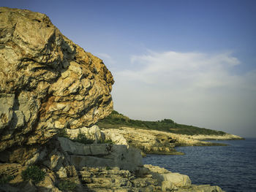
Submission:
M 112 72 L 114 110 L 256 137 L 256 1 L 1 1 L 48 15 Z

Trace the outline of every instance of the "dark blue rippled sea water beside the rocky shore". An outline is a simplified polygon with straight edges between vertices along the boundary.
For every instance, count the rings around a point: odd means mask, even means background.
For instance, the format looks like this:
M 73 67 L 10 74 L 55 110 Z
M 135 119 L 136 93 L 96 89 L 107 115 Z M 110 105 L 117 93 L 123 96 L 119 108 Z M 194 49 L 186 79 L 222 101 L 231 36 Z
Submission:
M 176 147 L 186 155 L 147 155 L 143 163 L 187 174 L 196 185 L 219 185 L 224 191 L 256 191 L 256 138 L 212 142 L 229 146 Z

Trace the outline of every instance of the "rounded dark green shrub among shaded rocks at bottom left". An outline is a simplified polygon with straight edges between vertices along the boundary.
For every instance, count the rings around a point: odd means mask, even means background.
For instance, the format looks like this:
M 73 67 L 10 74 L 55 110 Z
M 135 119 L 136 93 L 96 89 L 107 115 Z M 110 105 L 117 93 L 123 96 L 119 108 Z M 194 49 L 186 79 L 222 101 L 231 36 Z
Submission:
M 32 183 L 37 184 L 45 180 L 45 172 L 39 169 L 38 166 L 29 166 L 25 171 L 21 172 L 23 180 L 31 180 Z

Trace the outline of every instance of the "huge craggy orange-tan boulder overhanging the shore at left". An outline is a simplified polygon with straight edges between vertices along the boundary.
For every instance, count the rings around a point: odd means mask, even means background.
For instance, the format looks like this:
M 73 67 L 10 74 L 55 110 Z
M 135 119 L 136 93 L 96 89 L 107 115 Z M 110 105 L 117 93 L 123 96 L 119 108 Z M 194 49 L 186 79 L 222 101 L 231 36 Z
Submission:
M 91 126 L 109 115 L 113 82 L 102 60 L 64 37 L 46 15 L 0 7 L 0 161 L 31 158 L 34 146 L 58 129 Z M 17 160 L 21 153 L 26 156 Z

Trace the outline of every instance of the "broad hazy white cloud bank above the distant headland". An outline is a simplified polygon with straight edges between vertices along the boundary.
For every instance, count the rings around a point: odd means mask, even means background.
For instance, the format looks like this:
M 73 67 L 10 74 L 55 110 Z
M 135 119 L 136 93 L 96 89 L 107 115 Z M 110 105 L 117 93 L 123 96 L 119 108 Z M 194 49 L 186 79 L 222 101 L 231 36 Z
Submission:
M 148 51 L 131 62 L 133 69 L 113 72 L 115 109 L 131 118 L 173 118 L 222 130 L 245 119 L 246 126 L 255 123 L 248 117 L 256 114 L 256 71 L 232 74 L 241 65 L 232 53 Z

